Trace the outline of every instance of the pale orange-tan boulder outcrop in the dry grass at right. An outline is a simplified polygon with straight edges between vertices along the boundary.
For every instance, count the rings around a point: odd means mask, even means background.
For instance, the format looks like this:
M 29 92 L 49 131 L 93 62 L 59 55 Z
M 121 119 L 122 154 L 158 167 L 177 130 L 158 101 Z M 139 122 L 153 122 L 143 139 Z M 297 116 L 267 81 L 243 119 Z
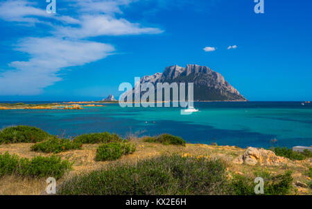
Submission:
M 257 165 L 258 163 L 260 165 L 279 165 L 287 162 L 287 159 L 276 156 L 275 153 L 270 150 L 248 147 L 245 153 L 235 158 L 233 162 L 237 164 L 245 163 L 247 165 Z

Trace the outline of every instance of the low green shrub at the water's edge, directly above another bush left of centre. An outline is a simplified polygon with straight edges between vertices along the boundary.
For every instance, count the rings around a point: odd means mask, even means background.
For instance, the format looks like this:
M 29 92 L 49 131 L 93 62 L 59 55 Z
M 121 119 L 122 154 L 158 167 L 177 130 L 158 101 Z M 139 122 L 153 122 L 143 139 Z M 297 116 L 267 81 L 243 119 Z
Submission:
M 73 139 L 74 142 L 80 142 L 83 144 L 97 144 L 97 143 L 107 143 L 107 142 L 122 142 L 123 139 L 116 135 L 115 133 L 89 133 L 79 135 Z

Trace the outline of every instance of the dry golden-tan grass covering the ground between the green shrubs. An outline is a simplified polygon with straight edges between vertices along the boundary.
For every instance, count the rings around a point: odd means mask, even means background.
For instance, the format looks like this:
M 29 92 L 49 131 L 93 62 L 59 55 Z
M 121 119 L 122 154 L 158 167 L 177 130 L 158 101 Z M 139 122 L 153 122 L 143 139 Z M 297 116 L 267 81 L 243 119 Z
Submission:
M 295 181 L 307 182 L 309 177 L 306 172 L 312 166 L 312 159 L 302 161 L 289 160 L 287 164 L 280 166 L 249 166 L 249 165 L 236 165 L 232 162 L 234 158 L 243 154 L 245 149 L 229 146 L 211 146 L 206 144 L 187 144 L 186 147 L 175 145 L 153 144 L 142 142 L 139 138 L 132 140 L 137 144 L 137 151 L 128 156 L 123 156 L 121 159 L 113 162 L 96 162 L 96 148 L 98 144 L 84 144 L 82 150 L 71 150 L 63 153 L 58 153 L 62 160 L 69 159 L 73 164 L 73 170 L 66 174 L 62 179 L 58 180 L 58 184 L 70 178 L 73 175 L 81 172 L 90 172 L 95 169 L 107 167 L 107 165 L 116 162 L 137 162 L 137 160 L 151 158 L 153 156 L 160 156 L 162 154 L 189 155 L 189 156 L 205 156 L 207 158 L 220 158 L 227 165 L 227 170 L 232 173 L 242 174 L 244 176 L 253 177 L 254 172 L 264 170 L 272 174 L 284 174 L 286 170 L 293 171 L 293 178 Z M 20 144 L 2 144 L 0 145 L 0 154 L 8 151 L 15 153 L 24 158 L 33 158 L 35 156 L 51 156 L 49 153 L 38 153 L 31 151 L 31 143 Z M 42 194 L 46 187 L 45 179 L 21 178 L 19 176 L 4 176 L 0 178 L 0 194 Z M 299 194 L 312 194 L 311 189 L 299 188 Z

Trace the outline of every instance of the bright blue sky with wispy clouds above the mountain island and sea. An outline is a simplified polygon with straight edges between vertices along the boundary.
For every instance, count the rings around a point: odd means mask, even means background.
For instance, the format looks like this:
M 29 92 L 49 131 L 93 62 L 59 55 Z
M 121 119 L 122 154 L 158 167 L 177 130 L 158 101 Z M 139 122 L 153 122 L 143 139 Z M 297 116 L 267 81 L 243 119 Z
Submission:
M 254 0 L 56 0 L 56 15 L 47 4 L 0 1 L 0 101 L 118 96 L 187 64 L 250 101 L 312 100 L 312 1 L 265 0 L 264 14 Z

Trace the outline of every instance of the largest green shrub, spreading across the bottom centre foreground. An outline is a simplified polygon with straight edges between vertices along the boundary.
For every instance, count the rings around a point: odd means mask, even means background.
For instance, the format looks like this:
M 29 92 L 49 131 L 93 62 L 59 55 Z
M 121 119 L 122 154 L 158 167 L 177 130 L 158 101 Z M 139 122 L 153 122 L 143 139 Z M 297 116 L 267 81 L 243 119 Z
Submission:
M 59 194 L 223 194 L 225 186 L 219 160 L 160 156 L 73 177 Z

